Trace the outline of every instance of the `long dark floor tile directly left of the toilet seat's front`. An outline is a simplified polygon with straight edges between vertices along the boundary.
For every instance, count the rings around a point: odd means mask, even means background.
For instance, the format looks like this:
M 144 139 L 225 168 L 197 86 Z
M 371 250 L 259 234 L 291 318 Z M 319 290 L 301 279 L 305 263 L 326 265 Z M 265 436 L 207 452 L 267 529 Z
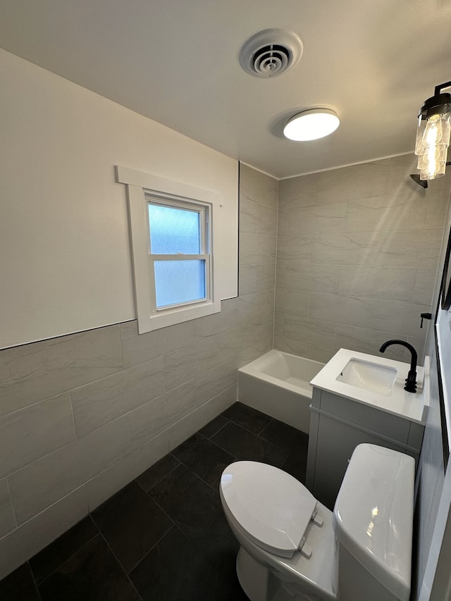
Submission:
M 209 562 L 221 564 L 235 538 L 224 516 L 218 490 L 180 465 L 150 495 Z

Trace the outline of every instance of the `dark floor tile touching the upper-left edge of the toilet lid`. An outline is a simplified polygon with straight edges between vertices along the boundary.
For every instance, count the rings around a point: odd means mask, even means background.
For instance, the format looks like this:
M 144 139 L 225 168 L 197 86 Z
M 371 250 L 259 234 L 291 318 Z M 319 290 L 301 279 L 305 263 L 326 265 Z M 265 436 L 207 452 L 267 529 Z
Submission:
M 185 440 L 173 450 L 173 455 L 207 484 L 217 481 L 224 469 L 235 461 L 233 455 L 200 434 Z

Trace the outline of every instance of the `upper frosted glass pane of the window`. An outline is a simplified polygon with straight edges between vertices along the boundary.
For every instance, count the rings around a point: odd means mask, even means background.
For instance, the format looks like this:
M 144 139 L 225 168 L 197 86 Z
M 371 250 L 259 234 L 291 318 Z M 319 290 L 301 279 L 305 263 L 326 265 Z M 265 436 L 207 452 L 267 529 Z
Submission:
M 200 254 L 197 211 L 149 204 L 150 244 L 154 254 Z

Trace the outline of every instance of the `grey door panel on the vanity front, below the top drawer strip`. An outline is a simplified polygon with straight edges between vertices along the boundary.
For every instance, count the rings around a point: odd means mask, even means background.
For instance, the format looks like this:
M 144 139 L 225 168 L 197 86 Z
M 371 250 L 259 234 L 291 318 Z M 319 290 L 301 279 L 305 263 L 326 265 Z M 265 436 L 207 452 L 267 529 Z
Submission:
M 404 452 L 402 447 L 390 445 L 376 435 L 367 434 L 327 416 L 320 416 L 312 492 L 329 509 L 333 509 L 352 452 L 361 442 Z

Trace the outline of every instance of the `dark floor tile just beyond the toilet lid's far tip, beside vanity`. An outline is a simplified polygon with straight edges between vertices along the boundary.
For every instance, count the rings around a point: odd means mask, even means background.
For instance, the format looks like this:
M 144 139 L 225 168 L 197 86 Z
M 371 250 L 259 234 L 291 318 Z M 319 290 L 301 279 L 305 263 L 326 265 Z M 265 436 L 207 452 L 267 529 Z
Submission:
M 235 423 L 228 423 L 211 440 L 240 461 L 261 461 L 280 467 L 288 457 L 287 450 L 276 447 Z

